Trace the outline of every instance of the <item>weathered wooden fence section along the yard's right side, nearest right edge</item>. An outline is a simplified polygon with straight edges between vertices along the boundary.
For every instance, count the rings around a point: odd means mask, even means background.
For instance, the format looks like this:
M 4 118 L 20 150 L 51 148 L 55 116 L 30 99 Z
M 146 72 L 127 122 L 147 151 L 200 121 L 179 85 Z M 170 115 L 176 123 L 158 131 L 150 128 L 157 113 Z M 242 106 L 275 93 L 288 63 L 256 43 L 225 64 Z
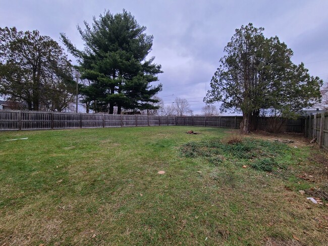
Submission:
M 306 118 L 305 136 L 314 139 L 328 151 L 328 112 L 317 113 Z

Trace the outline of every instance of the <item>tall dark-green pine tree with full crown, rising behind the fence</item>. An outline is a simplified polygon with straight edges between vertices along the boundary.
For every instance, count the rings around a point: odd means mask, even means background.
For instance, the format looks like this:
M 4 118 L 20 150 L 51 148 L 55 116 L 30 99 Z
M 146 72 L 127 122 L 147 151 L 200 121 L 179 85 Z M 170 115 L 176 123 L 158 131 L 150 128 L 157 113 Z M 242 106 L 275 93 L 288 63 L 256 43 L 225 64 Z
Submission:
M 106 11 L 99 19 L 93 18 L 92 26 L 84 22 L 85 30 L 78 26 L 85 49 L 78 50 L 65 34 L 63 42 L 79 63 L 82 79 L 91 81 L 81 88 L 95 111 L 118 114 L 125 109 L 155 108 L 152 96 L 162 86 L 151 86 L 162 73 L 160 65 L 147 60 L 153 37 L 146 35 L 146 27 L 140 26 L 135 18 L 125 10 L 116 15 Z M 95 105 L 96 104 L 96 105 Z

